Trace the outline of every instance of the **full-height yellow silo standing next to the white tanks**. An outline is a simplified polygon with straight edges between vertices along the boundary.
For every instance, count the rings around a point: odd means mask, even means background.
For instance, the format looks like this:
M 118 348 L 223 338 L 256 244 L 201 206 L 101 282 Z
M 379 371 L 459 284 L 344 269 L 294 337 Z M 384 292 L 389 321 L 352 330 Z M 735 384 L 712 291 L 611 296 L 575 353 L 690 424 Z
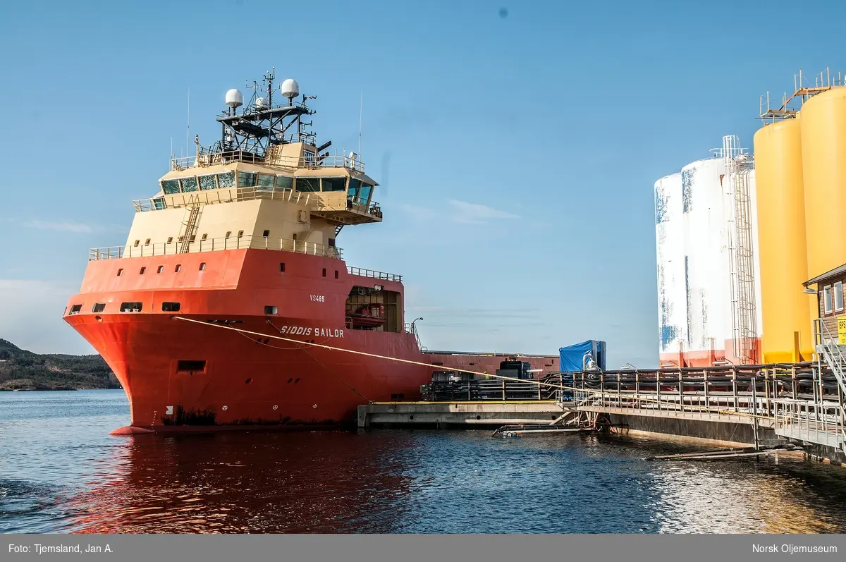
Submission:
M 761 261 L 761 357 L 765 363 L 813 355 L 802 189 L 801 117 L 755 133 L 755 184 Z

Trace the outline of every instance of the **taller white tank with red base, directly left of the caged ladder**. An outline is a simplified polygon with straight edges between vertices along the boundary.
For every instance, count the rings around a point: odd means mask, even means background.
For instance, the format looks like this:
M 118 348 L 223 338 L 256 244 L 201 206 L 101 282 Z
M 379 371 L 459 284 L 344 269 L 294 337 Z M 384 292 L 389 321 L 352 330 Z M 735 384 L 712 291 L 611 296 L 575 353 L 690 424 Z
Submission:
M 682 168 L 684 247 L 687 272 L 688 349 L 686 361 L 707 366 L 723 355 L 723 306 L 728 295 L 721 263 L 725 256 L 722 157 Z

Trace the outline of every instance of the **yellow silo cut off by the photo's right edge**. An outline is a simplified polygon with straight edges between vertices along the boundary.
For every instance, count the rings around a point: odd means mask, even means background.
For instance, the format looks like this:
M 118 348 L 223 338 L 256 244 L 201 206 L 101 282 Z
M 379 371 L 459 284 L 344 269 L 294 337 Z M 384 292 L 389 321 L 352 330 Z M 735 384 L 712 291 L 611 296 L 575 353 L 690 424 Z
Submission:
M 802 106 L 802 175 L 808 273 L 846 263 L 846 87 Z

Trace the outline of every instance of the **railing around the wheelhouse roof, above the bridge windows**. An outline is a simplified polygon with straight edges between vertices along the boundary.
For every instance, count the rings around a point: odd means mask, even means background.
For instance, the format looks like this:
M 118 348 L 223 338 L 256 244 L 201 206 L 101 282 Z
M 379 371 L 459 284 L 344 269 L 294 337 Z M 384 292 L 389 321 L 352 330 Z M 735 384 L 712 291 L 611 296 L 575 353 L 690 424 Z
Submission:
M 215 164 L 231 164 L 236 162 L 255 163 L 263 166 L 277 166 L 281 168 L 348 168 L 355 172 L 365 173 L 365 163 L 358 158 L 344 155 L 329 155 L 326 157 L 294 157 L 279 154 L 260 156 L 253 152 L 222 151 L 201 152 L 195 156 L 171 158 L 171 171 L 187 170 L 188 168 L 205 168 Z

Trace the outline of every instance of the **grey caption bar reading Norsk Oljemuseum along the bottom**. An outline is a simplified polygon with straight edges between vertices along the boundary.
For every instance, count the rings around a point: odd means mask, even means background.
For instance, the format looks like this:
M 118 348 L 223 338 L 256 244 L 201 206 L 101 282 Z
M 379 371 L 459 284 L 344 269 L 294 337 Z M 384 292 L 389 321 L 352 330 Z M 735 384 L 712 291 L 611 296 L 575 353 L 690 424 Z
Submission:
M 3 535 L 0 547 L 3 562 L 846 559 L 846 535 Z

